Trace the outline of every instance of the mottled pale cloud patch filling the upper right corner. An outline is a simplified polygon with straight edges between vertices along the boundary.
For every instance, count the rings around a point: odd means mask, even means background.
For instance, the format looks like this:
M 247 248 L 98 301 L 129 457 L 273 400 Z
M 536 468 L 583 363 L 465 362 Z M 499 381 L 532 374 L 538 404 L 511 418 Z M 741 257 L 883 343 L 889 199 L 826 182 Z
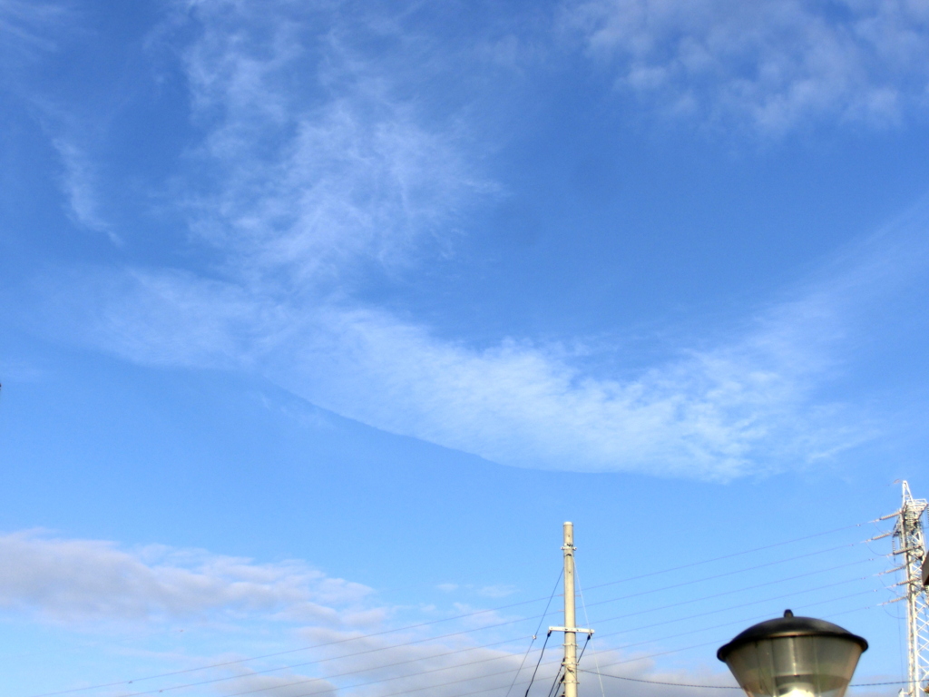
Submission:
M 822 118 L 893 125 L 929 102 L 923 0 L 580 0 L 563 21 L 666 113 L 776 134 Z

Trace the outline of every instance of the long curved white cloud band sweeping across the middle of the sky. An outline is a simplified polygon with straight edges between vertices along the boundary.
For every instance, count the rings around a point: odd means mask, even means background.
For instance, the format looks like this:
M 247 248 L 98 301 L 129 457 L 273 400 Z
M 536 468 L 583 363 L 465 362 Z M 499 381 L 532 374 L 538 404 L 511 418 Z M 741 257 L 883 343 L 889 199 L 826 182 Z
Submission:
M 59 279 L 55 304 L 76 303 L 75 335 L 131 360 L 257 369 L 338 414 L 504 464 L 727 480 L 806 467 L 874 434 L 820 390 L 849 336 L 929 263 L 920 210 L 740 334 L 632 378 L 591 373 L 558 347 L 466 348 L 384 311 L 190 273 L 108 272 L 96 291 L 92 276 Z

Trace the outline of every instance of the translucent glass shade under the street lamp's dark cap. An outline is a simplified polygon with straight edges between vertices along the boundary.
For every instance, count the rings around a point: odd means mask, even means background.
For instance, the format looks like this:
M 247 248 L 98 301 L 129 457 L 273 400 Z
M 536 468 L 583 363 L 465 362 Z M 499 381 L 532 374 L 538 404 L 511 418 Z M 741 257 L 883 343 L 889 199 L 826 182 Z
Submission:
M 845 637 L 781 636 L 734 646 L 724 660 L 750 697 L 843 697 L 864 648 Z

